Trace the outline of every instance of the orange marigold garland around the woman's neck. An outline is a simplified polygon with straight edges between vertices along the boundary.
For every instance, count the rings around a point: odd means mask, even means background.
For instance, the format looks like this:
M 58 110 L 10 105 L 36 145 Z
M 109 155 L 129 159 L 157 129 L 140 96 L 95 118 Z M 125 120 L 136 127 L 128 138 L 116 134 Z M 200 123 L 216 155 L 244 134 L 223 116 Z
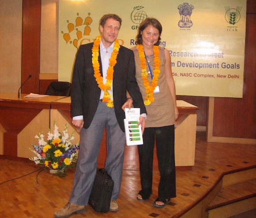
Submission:
M 159 60 L 159 49 L 158 46 L 153 47 L 153 52 L 154 52 L 154 71 L 153 71 L 153 79 L 151 82 L 151 85 L 149 84 L 149 81 L 147 79 L 148 73 L 147 73 L 147 64 L 146 64 L 146 58 L 145 58 L 145 53 L 143 50 L 143 46 L 141 44 L 137 45 L 137 49 L 139 51 L 139 60 L 140 60 L 140 68 L 141 68 L 141 77 L 143 80 L 143 85 L 145 87 L 145 92 L 146 92 L 146 97 L 144 101 L 144 105 L 150 105 L 151 102 L 154 102 L 154 89 L 157 87 L 158 83 L 158 77 L 160 74 L 160 60 Z

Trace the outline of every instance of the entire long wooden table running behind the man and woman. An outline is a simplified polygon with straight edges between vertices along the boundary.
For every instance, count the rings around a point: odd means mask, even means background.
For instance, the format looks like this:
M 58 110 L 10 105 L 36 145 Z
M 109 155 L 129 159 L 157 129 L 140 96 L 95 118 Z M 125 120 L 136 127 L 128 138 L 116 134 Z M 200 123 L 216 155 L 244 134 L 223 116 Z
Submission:
M 44 98 L 24 98 L 26 94 L 0 94 L 0 155 L 2 157 L 33 157 L 29 148 L 38 144 L 34 136 L 43 132 L 47 140 L 48 129 L 53 132 L 53 122 L 64 131 L 73 134 L 73 144 L 79 143 L 79 131 L 71 124 L 71 98 L 65 96 L 47 96 Z M 175 162 L 177 167 L 191 168 L 195 163 L 196 147 L 196 110 L 195 105 L 177 100 L 179 117 L 175 123 Z M 98 167 L 104 167 L 106 156 L 106 134 L 104 131 L 99 152 Z M 136 146 L 126 146 L 124 166 L 127 170 L 139 170 L 134 165 L 138 158 Z M 156 153 L 154 153 L 154 170 L 158 170 Z

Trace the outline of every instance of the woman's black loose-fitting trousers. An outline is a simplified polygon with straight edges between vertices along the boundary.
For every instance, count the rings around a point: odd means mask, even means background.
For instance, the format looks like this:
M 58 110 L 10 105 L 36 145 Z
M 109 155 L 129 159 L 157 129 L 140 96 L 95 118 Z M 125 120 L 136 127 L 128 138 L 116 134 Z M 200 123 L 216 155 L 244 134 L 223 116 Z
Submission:
M 166 127 L 149 127 L 144 130 L 143 145 L 138 146 L 142 192 L 148 197 L 152 193 L 155 141 L 158 157 L 158 169 L 160 172 L 158 198 L 168 199 L 176 197 L 174 125 Z

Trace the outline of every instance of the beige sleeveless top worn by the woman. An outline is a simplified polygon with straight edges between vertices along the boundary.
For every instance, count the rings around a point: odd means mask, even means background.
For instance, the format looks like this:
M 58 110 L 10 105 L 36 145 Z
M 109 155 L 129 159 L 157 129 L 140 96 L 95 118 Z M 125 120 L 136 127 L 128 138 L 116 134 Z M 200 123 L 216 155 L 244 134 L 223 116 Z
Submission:
M 145 100 L 146 92 L 141 78 L 141 67 L 139 60 L 139 52 L 136 47 L 131 48 L 134 52 L 135 64 L 136 64 L 136 80 L 139 85 L 139 90 Z M 175 122 L 174 101 L 171 95 L 169 86 L 166 81 L 165 73 L 165 48 L 159 46 L 159 59 L 160 59 L 160 74 L 158 77 L 159 92 L 154 93 L 154 102 L 150 105 L 146 105 L 147 120 L 146 127 L 164 127 L 173 125 Z M 150 64 L 151 71 L 154 71 L 154 55 L 147 56 L 147 61 Z M 148 68 L 147 68 L 148 70 Z M 151 84 L 151 76 L 147 77 L 149 84 Z

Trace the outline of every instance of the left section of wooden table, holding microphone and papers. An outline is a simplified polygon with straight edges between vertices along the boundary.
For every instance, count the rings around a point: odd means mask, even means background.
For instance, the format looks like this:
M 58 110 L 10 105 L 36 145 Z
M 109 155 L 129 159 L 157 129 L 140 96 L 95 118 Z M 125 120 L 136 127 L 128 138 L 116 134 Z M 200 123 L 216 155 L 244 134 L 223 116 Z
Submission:
M 47 139 L 49 128 L 50 102 L 65 96 L 44 98 L 18 98 L 14 93 L 0 94 L 0 155 L 30 157 L 34 154 L 28 149 L 34 138 L 43 131 Z

